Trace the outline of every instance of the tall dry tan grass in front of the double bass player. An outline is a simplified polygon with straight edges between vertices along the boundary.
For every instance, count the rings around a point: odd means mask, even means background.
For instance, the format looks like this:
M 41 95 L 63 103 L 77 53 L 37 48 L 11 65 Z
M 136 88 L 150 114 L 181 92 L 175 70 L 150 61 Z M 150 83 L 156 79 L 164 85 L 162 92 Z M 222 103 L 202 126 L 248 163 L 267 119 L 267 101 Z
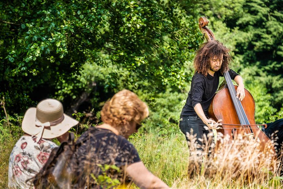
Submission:
M 238 135 L 230 140 L 218 135 L 221 147 L 216 151 L 212 151 L 212 133 L 208 140 L 204 140 L 204 151 L 197 150 L 194 136 L 188 137 L 191 139 L 188 176 L 193 175 L 193 168 L 196 167 L 197 174 L 193 177 L 199 182 L 199 187 L 207 187 L 210 183 L 215 188 L 282 188 L 278 173 L 280 160 L 274 157 L 271 147 L 263 148 L 264 144 L 253 137 Z

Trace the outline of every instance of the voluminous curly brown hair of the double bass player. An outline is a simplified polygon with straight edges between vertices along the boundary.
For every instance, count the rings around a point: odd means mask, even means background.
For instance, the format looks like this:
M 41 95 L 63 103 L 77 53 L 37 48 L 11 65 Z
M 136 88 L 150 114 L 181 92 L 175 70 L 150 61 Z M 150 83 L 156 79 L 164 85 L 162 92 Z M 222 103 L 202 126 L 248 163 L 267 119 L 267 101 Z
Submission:
M 224 71 L 229 70 L 231 56 L 229 55 L 230 49 L 225 47 L 219 41 L 209 41 L 203 43 L 200 48 L 196 52 L 195 60 L 194 60 L 194 67 L 195 72 L 201 73 L 202 75 L 206 76 L 208 70 L 210 69 L 210 59 L 216 56 L 220 59 L 221 55 L 223 54 L 223 61 L 220 67 L 220 72 L 223 74 Z

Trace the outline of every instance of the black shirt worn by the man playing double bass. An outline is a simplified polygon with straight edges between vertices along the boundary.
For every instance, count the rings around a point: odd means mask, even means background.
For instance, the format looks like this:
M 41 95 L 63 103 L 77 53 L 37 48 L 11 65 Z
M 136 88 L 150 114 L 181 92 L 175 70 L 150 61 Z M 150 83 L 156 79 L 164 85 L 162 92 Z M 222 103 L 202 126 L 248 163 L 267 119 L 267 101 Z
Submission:
M 231 69 L 228 73 L 231 79 L 234 79 L 238 75 Z M 200 73 L 195 73 L 192 78 L 191 89 L 188 93 L 186 104 L 181 112 L 181 118 L 198 116 L 194 109 L 195 105 L 198 103 L 201 104 L 204 114 L 208 117 L 208 107 L 218 89 L 220 76 L 223 77 L 219 71 L 215 72 L 214 76 L 211 76 L 210 74 L 204 76 Z

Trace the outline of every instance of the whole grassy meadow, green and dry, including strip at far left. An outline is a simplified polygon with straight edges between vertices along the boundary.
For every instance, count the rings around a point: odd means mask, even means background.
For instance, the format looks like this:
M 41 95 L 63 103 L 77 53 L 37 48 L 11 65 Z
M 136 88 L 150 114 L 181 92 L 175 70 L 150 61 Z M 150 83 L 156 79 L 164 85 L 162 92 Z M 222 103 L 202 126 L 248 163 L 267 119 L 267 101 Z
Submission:
M 147 125 L 147 128 L 150 126 Z M 202 159 L 198 158 L 194 147 L 190 149 L 189 156 L 184 135 L 176 128 L 173 131 L 164 134 L 162 129 L 149 129 L 130 137 L 145 166 L 172 188 L 283 187 L 282 177 L 277 173 L 278 162 L 260 153 L 253 141 L 242 139 L 224 146 L 213 157 L 206 158 L 201 173 L 189 177 L 190 163 L 202 162 Z M 0 188 L 8 187 L 9 154 L 19 137 L 1 138 Z M 134 184 L 131 187 L 137 188 Z

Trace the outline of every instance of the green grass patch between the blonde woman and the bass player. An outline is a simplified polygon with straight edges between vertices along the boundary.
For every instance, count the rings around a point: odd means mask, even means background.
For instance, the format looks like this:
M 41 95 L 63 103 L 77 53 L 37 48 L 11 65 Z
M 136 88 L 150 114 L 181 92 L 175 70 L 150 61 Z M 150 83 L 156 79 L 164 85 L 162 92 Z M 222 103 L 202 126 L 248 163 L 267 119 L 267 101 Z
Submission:
M 130 141 L 145 166 L 166 184 L 171 186 L 186 176 L 189 152 L 183 134 L 158 136 L 153 132 L 140 133 L 131 137 Z

